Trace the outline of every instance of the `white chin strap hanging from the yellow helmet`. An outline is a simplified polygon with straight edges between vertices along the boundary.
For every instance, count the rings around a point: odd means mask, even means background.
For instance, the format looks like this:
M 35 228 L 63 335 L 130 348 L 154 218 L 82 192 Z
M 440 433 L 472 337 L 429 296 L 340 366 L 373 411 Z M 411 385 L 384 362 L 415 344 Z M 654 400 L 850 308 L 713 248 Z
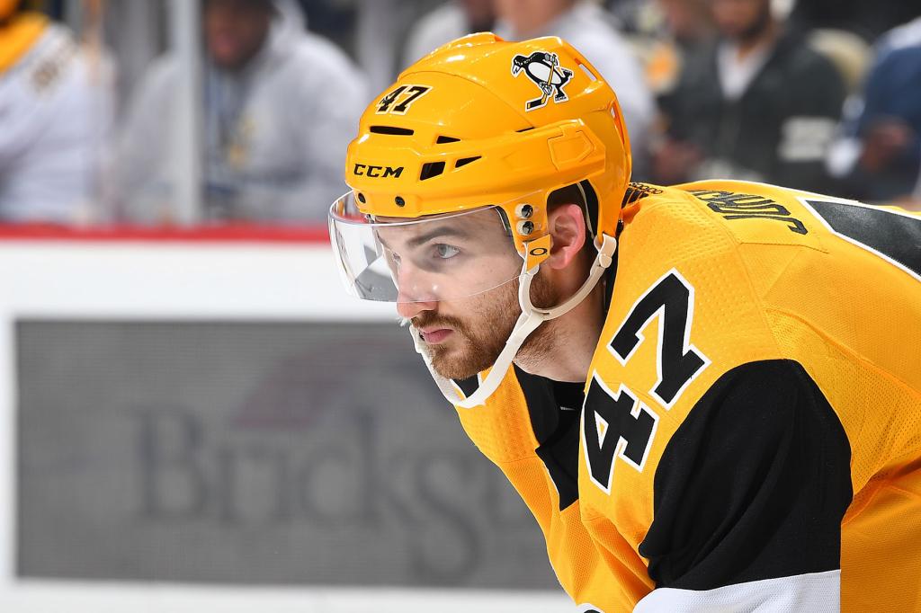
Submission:
M 495 364 L 493 364 L 493 367 L 489 370 L 489 375 L 481 380 L 480 387 L 477 387 L 476 391 L 468 397 L 464 396 L 463 391 L 456 383 L 437 373 L 435 366 L 432 365 L 432 355 L 428 347 L 426 347 L 425 342 L 420 339 L 419 332 L 410 324 L 409 330 L 413 335 L 415 351 L 422 354 L 429 373 L 432 374 L 432 378 L 435 379 L 435 383 L 438 389 L 441 390 L 445 399 L 461 409 L 472 409 L 473 407 L 484 404 L 486 399 L 493 395 L 493 392 L 495 392 L 499 384 L 502 383 L 502 379 L 505 378 L 508 367 L 511 366 L 521 345 L 530 336 L 530 333 L 537 330 L 537 327 L 544 321 L 558 318 L 577 307 L 577 305 L 585 300 L 586 296 L 595 288 L 595 285 L 600 281 L 604 271 L 611 266 L 614 251 L 617 249 L 617 239 L 607 235 L 601 235 L 601 240 L 600 247 L 598 247 L 596 243 L 598 256 L 591 265 L 589 278 L 586 279 L 585 283 L 582 283 L 582 286 L 579 287 L 576 294 L 572 295 L 563 304 L 553 308 L 537 308 L 530 302 L 530 283 L 534 276 L 537 275 L 541 265 L 538 264 L 530 270 L 526 269 L 527 263 L 521 266 L 521 274 L 519 275 L 519 306 L 521 307 L 521 315 L 515 323 L 515 328 L 512 329 L 512 333 L 508 336 L 505 348 L 499 353 L 499 356 L 495 359 Z

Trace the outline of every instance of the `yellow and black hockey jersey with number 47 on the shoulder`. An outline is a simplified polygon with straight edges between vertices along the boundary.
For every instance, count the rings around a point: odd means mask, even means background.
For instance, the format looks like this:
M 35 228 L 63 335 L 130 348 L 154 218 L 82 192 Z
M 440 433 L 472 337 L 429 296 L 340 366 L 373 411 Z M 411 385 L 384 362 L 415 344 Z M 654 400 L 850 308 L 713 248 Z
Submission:
M 623 218 L 585 385 L 512 367 L 459 410 L 566 592 L 921 611 L 921 217 L 707 181 Z

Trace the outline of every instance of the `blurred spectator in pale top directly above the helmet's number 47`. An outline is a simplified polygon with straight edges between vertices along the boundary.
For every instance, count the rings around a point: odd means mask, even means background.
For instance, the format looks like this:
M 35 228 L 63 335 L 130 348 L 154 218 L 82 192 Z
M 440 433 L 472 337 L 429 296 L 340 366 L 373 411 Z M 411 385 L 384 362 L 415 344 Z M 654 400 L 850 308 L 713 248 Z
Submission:
M 493 2 L 494 0 L 451 0 L 421 17 L 407 35 L 402 65 L 413 64 L 446 42 L 466 34 L 493 29 Z

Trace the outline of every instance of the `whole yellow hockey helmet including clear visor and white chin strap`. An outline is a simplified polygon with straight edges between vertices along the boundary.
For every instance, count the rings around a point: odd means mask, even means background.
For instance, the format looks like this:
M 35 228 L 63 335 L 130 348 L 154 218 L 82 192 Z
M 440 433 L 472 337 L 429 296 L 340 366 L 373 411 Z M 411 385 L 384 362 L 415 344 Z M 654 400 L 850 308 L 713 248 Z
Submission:
M 463 299 L 517 279 L 521 315 L 470 395 L 437 372 L 410 323 L 445 398 L 476 406 L 530 333 L 576 307 L 611 266 L 630 165 L 617 98 L 564 40 L 455 40 L 403 72 L 361 118 L 346 158 L 352 191 L 330 210 L 340 272 L 354 294 L 397 303 Z M 574 295 L 535 307 L 530 284 L 553 247 L 548 199 L 570 185 L 586 195 L 598 254 Z

